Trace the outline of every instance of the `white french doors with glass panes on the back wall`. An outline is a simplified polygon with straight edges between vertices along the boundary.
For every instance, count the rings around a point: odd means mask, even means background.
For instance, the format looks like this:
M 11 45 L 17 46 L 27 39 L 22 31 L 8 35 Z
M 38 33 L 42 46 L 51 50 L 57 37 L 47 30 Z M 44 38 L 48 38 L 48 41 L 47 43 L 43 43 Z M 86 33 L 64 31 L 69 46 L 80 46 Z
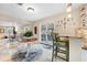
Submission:
M 53 23 L 41 24 L 41 42 L 47 45 L 52 45 L 51 32 L 54 29 Z

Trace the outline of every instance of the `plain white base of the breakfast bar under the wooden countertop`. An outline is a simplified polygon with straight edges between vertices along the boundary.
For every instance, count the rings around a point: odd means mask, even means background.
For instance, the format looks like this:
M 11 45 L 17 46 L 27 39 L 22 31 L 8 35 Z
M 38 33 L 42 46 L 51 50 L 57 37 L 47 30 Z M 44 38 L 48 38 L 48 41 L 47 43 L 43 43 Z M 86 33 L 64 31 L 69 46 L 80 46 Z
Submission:
M 69 37 L 69 62 L 81 62 L 83 40 Z

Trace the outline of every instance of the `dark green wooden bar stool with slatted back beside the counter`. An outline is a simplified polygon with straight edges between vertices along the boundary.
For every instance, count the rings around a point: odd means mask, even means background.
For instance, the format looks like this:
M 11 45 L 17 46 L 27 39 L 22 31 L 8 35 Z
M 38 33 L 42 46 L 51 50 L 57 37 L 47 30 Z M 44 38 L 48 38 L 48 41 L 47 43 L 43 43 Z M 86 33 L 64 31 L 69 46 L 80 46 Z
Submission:
M 64 37 L 65 40 L 61 40 Z M 53 52 L 52 52 L 52 62 L 56 58 L 61 58 L 63 61 L 69 61 L 69 40 L 68 36 L 58 36 L 57 33 L 52 33 L 53 39 Z M 63 50 L 64 48 L 64 50 Z M 65 57 L 61 56 L 64 54 Z

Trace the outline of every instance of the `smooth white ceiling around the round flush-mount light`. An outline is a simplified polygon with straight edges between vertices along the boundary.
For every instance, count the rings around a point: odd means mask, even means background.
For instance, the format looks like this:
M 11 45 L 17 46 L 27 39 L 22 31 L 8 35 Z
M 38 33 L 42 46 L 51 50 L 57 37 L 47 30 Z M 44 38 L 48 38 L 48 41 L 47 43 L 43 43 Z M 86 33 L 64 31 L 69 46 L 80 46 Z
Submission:
M 79 6 L 79 3 L 74 3 L 73 9 L 77 9 Z M 30 13 L 26 10 L 28 7 L 33 8 L 34 13 Z M 0 12 L 25 21 L 37 21 L 66 11 L 66 3 L 25 3 L 21 7 L 17 3 L 0 3 Z

